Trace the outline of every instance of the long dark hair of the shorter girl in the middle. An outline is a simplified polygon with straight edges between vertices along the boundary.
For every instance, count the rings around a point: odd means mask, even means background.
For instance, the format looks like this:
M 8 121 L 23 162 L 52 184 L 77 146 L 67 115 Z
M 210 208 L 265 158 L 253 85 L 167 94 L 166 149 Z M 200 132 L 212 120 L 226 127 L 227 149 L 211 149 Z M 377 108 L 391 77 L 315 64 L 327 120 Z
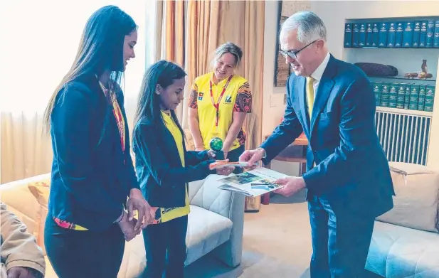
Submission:
M 140 90 L 134 117 L 134 127 L 140 120 L 147 119 L 149 122 L 153 122 L 157 129 L 165 129 L 160 108 L 160 96 L 156 94 L 157 85 L 166 89 L 174 83 L 174 80 L 179 80 L 185 76 L 186 72 L 179 65 L 166 60 L 159 60 L 151 65 L 143 77 L 142 89 Z M 171 117 L 184 137 L 183 129 L 174 110 L 171 110 Z

